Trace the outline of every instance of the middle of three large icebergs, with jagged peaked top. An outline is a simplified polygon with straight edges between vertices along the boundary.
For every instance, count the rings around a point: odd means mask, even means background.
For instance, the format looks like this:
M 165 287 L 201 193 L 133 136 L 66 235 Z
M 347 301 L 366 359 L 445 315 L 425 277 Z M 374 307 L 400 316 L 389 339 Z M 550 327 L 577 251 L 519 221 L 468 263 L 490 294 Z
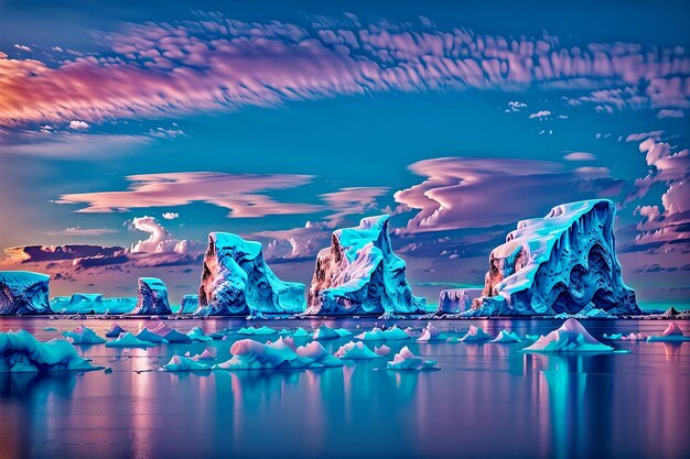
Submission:
M 333 231 L 331 247 L 319 252 L 305 314 L 424 312 L 424 300 L 412 296 L 405 261 L 392 252 L 389 218 L 363 218 L 358 227 Z

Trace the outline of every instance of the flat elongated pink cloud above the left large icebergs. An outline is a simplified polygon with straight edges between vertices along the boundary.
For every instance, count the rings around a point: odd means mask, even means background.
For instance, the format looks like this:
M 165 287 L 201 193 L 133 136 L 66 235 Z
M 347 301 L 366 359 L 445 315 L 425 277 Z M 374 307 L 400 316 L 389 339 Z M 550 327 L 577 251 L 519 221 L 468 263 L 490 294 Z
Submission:
M 304 185 L 311 182 L 310 175 L 176 172 L 130 175 L 126 178 L 131 183 L 127 190 L 62 195 L 55 203 L 85 204 L 86 207 L 77 210 L 79 212 L 115 212 L 206 203 L 228 209 L 228 217 L 236 218 L 322 210 L 316 205 L 279 203 L 262 194 Z

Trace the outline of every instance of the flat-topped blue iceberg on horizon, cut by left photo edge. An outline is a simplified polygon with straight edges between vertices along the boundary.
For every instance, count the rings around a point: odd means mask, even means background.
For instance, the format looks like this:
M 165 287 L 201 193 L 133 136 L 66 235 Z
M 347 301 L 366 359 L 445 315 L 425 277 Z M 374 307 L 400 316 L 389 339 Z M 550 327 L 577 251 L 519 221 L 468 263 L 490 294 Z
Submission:
M 0 271 L 0 315 L 50 314 L 50 280 L 31 271 Z

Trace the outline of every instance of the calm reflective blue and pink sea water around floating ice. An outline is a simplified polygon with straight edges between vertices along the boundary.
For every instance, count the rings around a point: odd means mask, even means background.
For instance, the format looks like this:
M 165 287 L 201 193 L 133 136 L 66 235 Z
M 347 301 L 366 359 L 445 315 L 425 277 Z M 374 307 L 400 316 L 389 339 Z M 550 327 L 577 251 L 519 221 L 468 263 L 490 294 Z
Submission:
M 374 319 L 330 320 L 370 329 Z M 79 323 L 105 334 L 111 320 L 2 318 L 45 340 Z M 128 330 L 154 320 L 119 320 Z M 255 321 L 315 328 L 320 320 Z M 379 321 L 380 323 L 380 321 Z M 562 320 L 435 321 L 462 332 L 546 334 Z M 181 331 L 245 320 L 171 320 Z M 389 323 L 390 324 L 390 323 Z M 419 321 L 399 326 L 422 327 Z M 666 321 L 586 320 L 604 332 L 659 334 Z M 690 323 L 678 323 L 690 335 Z M 44 331 L 44 327 L 58 331 Z M 209 346 L 229 357 L 233 336 Z M 274 337 L 269 337 L 274 338 Z M 263 339 L 265 341 L 266 339 Z M 335 351 L 348 339 L 324 342 Z M 155 370 L 204 343 L 149 351 L 79 346 L 86 374 L 0 374 L 0 457 L 9 458 L 688 458 L 690 343 L 615 342 L 632 353 L 529 354 L 525 345 L 408 345 L 440 371 L 389 372 L 388 359 L 308 371 Z M 125 352 L 125 354 L 123 354 Z

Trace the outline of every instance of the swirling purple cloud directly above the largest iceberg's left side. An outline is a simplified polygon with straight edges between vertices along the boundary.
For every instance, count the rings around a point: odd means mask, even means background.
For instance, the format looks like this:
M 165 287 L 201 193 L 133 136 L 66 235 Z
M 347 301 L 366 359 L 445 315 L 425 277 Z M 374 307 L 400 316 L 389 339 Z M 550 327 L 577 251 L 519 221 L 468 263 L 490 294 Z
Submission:
M 533 160 L 440 157 L 409 168 L 424 181 L 395 194 L 405 210 L 417 210 L 400 234 L 514 223 L 557 204 L 618 196 L 624 184 L 606 170 Z

